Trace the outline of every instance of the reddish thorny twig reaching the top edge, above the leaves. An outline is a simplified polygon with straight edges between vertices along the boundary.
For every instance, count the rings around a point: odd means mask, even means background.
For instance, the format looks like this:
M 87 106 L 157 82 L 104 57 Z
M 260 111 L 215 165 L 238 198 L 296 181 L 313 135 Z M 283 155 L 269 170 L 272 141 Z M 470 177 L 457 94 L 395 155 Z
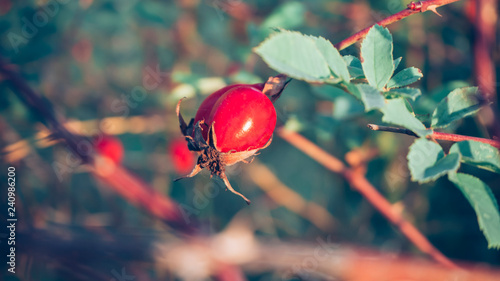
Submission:
M 404 10 L 402 10 L 394 15 L 391 15 L 391 16 L 377 22 L 376 24 L 378 24 L 380 26 L 387 26 L 391 23 L 395 23 L 397 21 L 400 21 L 400 20 L 402 20 L 406 17 L 409 17 L 413 14 L 423 13 L 426 11 L 433 11 L 434 13 L 438 14 L 436 11 L 437 7 L 444 6 L 444 5 L 447 5 L 447 4 L 450 4 L 453 2 L 457 2 L 457 1 L 459 1 L 459 0 L 428 0 L 428 1 L 419 1 L 416 3 L 411 2 L 408 5 L 408 8 L 406 8 L 406 9 L 404 9 Z M 352 44 L 365 38 L 366 34 L 368 34 L 368 31 L 370 30 L 370 28 L 372 26 L 373 25 L 371 25 L 371 26 L 359 31 L 358 33 L 351 35 L 348 38 L 340 41 L 339 43 L 335 44 L 335 47 L 338 50 L 343 50 L 343 49 L 351 46 Z

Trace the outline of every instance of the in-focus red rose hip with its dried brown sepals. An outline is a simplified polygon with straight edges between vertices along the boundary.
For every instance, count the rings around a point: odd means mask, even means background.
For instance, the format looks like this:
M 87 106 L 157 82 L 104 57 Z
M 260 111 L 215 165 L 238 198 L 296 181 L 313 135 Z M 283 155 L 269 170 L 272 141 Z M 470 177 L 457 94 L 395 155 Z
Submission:
M 196 116 L 187 125 L 177 115 L 181 132 L 188 148 L 199 153 L 198 162 L 186 177 L 198 174 L 203 168 L 220 177 L 226 188 L 235 191 L 226 175 L 225 167 L 245 161 L 260 149 L 266 148 L 272 140 L 276 126 L 276 110 L 271 100 L 262 93 L 264 84 L 231 85 L 208 96 L 200 105 Z

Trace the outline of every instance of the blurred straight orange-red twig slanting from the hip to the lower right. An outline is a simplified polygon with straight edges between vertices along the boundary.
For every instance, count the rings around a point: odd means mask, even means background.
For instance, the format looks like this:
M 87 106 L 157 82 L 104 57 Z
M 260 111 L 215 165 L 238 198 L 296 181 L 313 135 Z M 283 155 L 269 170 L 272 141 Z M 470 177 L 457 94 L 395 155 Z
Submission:
M 420 251 L 449 268 L 457 268 L 457 265 L 436 249 L 417 228 L 403 218 L 401 214 L 394 212 L 391 203 L 377 191 L 363 174 L 345 166 L 342 161 L 295 132 L 282 127 L 278 129 L 278 135 L 325 168 L 344 176 L 352 188 L 361 193 L 366 200 L 394 224 Z

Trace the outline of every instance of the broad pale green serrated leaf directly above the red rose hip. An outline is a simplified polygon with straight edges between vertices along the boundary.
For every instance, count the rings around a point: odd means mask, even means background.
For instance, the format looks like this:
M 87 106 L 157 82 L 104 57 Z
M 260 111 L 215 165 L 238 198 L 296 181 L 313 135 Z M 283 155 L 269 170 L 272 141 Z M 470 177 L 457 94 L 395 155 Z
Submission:
M 323 82 L 330 69 L 315 40 L 299 32 L 281 31 L 264 40 L 255 52 L 274 70 L 311 82 Z

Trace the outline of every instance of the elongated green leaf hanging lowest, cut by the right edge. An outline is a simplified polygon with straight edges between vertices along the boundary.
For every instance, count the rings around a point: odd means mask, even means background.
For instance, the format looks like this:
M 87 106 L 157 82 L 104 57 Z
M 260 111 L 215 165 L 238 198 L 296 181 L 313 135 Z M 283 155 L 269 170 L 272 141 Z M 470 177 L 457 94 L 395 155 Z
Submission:
M 490 187 L 468 174 L 450 173 L 448 179 L 462 191 L 474 208 L 479 228 L 488 240 L 488 248 L 500 249 L 500 213 Z

